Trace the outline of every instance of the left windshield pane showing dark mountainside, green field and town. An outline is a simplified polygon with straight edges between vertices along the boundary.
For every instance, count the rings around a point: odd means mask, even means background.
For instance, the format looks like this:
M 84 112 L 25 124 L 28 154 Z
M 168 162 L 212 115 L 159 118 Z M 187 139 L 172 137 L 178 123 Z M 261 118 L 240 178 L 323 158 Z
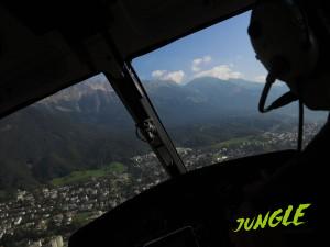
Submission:
M 103 75 L 2 119 L 0 134 L 0 246 L 66 245 L 167 179 Z

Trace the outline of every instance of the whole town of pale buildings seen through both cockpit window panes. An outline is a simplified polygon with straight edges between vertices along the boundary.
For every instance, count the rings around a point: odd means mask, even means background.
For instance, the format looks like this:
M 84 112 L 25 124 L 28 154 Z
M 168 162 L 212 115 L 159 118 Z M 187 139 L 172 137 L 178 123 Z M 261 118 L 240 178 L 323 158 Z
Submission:
M 318 130 L 305 127 L 306 143 Z M 260 153 L 295 148 L 295 132 L 267 132 L 260 139 L 246 139 L 233 147 L 178 148 L 188 169 Z M 31 191 L 18 190 L 14 198 L 0 203 L 0 247 L 63 247 L 77 228 L 128 199 L 166 180 L 153 153 L 131 158 L 132 168 L 66 186 L 44 186 Z

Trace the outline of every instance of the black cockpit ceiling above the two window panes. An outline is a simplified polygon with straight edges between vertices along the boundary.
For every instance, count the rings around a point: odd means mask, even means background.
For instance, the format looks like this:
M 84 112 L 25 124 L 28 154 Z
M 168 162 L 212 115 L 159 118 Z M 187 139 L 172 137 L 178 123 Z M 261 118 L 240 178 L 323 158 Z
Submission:
M 254 0 L 2 0 L 0 116 L 249 9 Z

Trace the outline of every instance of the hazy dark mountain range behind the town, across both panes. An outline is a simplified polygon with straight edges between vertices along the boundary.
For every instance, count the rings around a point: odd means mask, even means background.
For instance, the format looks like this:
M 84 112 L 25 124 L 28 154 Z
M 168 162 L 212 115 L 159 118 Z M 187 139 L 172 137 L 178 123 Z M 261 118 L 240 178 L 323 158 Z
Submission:
M 296 121 L 296 106 L 257 113 L 262 83 L 198 78 L 182 86 L 144 81 L 176 146 L 202 147 Z M 272 98 L 286 91 L 278 86 Z M 55 93 L 0 121 L 0 189 L 26 188 L 73 170 L 129 162 L 150 151 L 132 119 L 102 77 Z

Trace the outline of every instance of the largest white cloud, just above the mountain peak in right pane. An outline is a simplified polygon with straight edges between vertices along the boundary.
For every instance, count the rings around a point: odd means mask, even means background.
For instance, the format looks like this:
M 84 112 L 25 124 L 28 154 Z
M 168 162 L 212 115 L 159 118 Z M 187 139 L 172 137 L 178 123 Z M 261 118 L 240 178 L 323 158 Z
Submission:
M 215 77 L 221 80 L 228 80 L 243 78 L 243 74 L 233 71 L 230 65 L 218 65 L 209 70 L 204 70 L 195 74 L 194 77 Z

